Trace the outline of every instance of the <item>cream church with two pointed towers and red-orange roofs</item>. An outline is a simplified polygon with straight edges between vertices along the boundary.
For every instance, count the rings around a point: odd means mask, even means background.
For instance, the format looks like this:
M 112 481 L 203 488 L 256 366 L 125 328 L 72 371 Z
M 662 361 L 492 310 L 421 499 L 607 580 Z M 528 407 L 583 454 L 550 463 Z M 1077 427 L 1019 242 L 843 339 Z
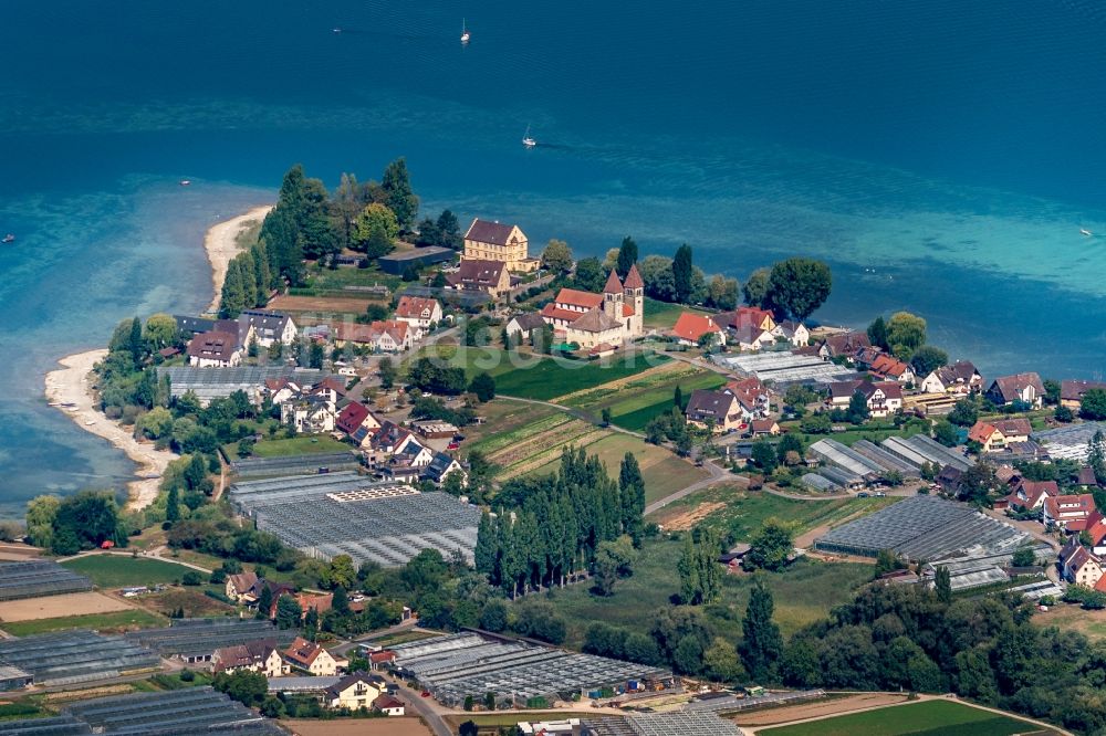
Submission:
M 541 314 L 562 343 L 588 350 L 616 348 L 645 334 L 645 282 L 637 265 L 625 282 L 612 270 L 602 294 L 562 288 Z

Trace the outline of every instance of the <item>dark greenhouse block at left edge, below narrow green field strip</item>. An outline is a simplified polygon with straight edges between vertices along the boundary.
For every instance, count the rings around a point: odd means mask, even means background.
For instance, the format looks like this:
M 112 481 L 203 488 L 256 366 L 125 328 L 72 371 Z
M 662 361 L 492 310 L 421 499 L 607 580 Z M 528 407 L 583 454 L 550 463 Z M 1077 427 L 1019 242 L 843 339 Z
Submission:
M 39 685 L 71 685 L 156 670 L 157 654 L 123 637 L 77 629 L 0 641 L 0 662 L 34 675 Z

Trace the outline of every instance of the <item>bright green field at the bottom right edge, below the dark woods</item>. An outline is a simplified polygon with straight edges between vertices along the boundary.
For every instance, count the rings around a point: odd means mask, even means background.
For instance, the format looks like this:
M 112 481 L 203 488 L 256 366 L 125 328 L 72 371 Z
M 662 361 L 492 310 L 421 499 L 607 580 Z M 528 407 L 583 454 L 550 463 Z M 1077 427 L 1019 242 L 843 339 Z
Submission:
M 759 728 L 765 736 L 1012 736 L 1055 734 L 1024 721 L 951 701 L 908 703 L 877 711 L 812 721 L 794 726 Z

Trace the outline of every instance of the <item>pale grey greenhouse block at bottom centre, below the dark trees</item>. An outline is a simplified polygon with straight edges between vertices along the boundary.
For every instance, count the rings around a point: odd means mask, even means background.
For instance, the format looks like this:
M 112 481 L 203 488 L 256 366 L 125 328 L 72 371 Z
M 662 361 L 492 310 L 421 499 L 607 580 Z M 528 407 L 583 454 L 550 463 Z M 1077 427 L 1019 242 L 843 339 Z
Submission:
M 671 677 L 657 667 L 576 654 L 521 641 L 460 633 L 389 646 L 396 665 L 415 674 L 434 696 L 456 704 L 466 695 L 494 692 L 519 701 L 555 697 L 624 684 L 629 680 Z

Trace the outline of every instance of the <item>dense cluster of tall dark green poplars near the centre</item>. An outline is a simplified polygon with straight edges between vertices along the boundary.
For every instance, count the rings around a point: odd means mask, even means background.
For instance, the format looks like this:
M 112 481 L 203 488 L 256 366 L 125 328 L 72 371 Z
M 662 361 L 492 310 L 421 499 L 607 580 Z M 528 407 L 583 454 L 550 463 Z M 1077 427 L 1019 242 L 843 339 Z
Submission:
M 484 513 L 476 568 L 512 597 L 564 587 L 592 565 L 599 544 L 627 535 L 640 546 L 644 514 L 645 481 L 632 453 L 615 481 L 597 456 L 568 448 L 560 470 L 535 481 L 521 506 Z

